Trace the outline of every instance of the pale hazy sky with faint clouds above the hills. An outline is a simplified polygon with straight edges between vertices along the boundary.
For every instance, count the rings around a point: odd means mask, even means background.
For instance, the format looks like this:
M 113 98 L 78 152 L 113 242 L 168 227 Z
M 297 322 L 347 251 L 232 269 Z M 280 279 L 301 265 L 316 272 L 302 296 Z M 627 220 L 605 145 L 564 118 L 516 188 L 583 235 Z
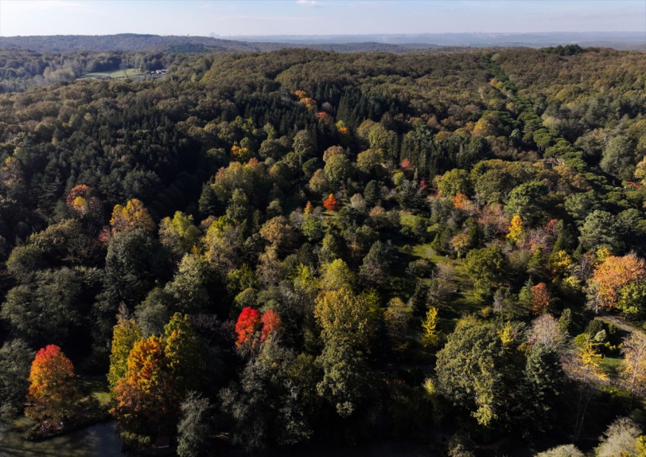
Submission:
M 646 0 L 0 0 L 0 35 L 646 30 Z

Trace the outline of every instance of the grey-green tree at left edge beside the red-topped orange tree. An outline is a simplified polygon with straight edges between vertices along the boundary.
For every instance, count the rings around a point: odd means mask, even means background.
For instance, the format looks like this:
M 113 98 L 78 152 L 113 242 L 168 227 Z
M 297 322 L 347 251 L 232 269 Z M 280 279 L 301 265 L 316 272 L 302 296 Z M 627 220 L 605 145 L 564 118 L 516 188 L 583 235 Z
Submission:
M 0 348 L 0 422 L 22 411 L 32 360 L 34 351 L 23 340 L 6 341 Z

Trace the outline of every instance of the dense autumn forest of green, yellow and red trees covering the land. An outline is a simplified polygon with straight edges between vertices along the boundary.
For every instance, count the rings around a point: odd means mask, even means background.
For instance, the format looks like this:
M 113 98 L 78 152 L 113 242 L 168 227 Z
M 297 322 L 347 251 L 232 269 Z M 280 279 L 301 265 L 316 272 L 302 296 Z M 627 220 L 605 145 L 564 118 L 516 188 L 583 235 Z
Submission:
M 115 65 L 169 73 L 76 79 Z M 643 52 L 0 68 L 0 418 L 28 438 L 646 455 Z

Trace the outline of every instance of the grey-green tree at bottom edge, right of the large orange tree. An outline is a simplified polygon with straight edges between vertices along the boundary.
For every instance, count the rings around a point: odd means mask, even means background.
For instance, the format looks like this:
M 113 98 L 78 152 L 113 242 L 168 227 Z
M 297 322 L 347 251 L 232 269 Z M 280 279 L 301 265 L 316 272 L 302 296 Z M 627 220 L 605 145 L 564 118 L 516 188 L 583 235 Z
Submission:
M 198 392 L 189 392 L 180 409 L 182 420 L 177 425 L 178 456 L 193 457 L 206 454 L 213 432 L 210 417 L 213 405 Z

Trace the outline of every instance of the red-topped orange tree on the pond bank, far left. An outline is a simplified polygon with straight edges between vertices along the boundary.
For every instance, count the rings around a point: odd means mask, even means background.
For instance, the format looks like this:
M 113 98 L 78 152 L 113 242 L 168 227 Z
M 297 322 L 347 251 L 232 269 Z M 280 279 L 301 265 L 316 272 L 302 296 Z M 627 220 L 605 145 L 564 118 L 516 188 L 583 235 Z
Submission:
M 74 365 L 56 345 L 36 352 L 29 373 L 28 406 L 25 414 L 36 420 L 54 422 L 72 416 L 79 398 L 74 383 Z

